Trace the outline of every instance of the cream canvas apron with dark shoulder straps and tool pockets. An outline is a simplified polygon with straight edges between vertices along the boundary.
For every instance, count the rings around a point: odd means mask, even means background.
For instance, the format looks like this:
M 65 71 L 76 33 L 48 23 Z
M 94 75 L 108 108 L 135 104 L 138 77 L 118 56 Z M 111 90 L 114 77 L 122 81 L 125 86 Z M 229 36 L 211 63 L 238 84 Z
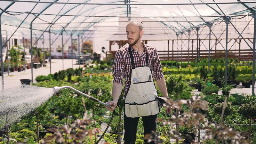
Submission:
M 150 116 L 160 112 L 158 101 L 156 100 L 156 86 L 149 67 L 146 49 L 145 52 L 146 66 L 135 67 L 132 47 L 129 46 L 132 69 L 130 86 L 124 98 L 124 111 L 127 117 Z

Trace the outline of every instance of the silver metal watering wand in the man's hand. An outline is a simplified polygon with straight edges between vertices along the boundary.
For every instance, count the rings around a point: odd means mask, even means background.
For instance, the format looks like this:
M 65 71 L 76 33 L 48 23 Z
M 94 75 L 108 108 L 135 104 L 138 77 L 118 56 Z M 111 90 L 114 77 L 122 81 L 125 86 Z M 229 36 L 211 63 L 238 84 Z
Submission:
M 68 89 L 70 89 L 70 90 L 75 91 L 76 93 L 79 93 L 79 94 L 81 94 L 81 95 L 83 95 L 83 96 L 89 98 L 90 100 L 93 100 L 93 101 L 95 101 L 95 102 L 98 102 L 98 103 L 104 105 L 105 107 L 108 107 L 108 108 L 112 108 L 112 107 L 113 107 L 112 105 L 109 105 L 109 103 L 104 103 L 104 102 L 102 102 L 102 101 L 100 101 L 100 100 L 98 100 L 98 99 L 95 99 L 94 97 L 91 97 L 91 96 L 85 94 L 84 92 L 80 92 L 80 91 L 78 91 L 77 89 L 75 89 L 75 88 L 73 88 L 73 87 L 71 87 L 71 86 L 68 86 L 68 85 L 61 86 L 61 87 L 54 86 L 54 87 L 52 87 L 52 88 L 54 89 L 54 94 L 59 93 L 60 90 L 62 90 L 62 89 L 68 88 Z

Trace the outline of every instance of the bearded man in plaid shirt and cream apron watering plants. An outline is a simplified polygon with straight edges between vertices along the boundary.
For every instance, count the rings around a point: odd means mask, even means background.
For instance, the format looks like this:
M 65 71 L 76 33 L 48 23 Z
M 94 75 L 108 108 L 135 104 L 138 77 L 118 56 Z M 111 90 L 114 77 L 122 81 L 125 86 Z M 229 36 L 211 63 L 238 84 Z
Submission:
M 109 101 L 115 109 L 122 92 L 123 77 L 124 104 L 124 144 L 135 144 L 139 118 L 142 117 L 144 135 L 156 132 L 156 117 L 160 111 L 156 93 L 156 84 L 162 95 L 168 98 L 164 75 L 155 47 L 144 44 L 142 22 L 131 20 L 126 26 L 128 44 L 116 52 L 113 66 L 113 101 Z M 158 99 L 158 98 L 157 98 Z M 171 108 L 166 108 L 170 113 Z M 147 143 L 147 140 L 144 140 Z M 150 144 L 154 144 L 151 141 Z

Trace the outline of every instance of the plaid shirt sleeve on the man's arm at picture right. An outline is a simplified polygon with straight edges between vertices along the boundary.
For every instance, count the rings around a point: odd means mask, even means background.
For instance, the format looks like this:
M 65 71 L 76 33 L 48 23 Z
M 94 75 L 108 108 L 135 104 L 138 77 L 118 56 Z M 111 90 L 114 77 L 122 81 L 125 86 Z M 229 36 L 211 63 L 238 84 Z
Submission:
M 162 67 L 161 67 L 161 63 L 160 63 L 160 59 L 158 56 L 158 52 L 157 50 L 155 50 L 155 60 L 154 60 L 154 64 L 153 64 L 153 76 L 155 77 L 155 80 L 158 81 L 160 79 L 162 79 L 164 77 L 163 75 L 163 71 L 162 71 Z

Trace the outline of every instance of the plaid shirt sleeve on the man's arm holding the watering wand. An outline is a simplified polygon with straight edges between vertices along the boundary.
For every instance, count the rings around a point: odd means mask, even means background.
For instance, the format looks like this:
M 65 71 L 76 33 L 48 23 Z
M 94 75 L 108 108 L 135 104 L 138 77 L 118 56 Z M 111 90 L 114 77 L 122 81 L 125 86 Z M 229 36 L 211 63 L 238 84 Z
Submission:
M 119 82 L 123 84 L 123 78 L 124 78 L 124 57 L 122 54 L 122 51 L 118 50 L 116 52 L 114 65 L 113 65 L 113 76 L 114 76 L 114 82 Z

